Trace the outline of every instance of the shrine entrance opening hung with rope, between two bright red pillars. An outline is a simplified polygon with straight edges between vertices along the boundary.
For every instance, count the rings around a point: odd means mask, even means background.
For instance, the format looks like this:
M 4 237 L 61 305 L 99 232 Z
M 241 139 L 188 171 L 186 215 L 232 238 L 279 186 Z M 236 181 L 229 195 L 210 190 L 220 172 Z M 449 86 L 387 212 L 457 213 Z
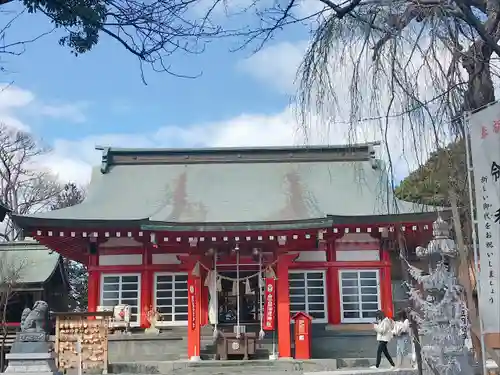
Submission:
M 204 285 L 209 294 L 208 320 L 216 343 L 215 358 L 255 359 L 257 343 L 266 336 L 266 282 L 271 278 L 274 285 L 276 277 L 272 253 L 266 259 L 261 249 L 241 249 L 235 244 L 225 251 L 213 249 L 207 255 L 212 257 L 212 264 L 204 266 L 207 271 Z M 274 317 L 273 311 L 270 316 Z

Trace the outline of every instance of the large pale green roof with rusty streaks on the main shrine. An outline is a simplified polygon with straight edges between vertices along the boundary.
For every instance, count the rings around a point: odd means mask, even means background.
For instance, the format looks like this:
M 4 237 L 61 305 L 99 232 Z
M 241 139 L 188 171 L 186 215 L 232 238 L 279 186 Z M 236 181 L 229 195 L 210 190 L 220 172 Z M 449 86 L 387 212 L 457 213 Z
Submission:
M 38 219 L 41 226 L 44 220 L 76 220 L 185 227 L 243 223 L 252 229 L 250 223 L 307 224 L 329 215 L 435 211 L 396 199 L 372 150 L 370 145 L 352 149 L 105 149 L 103 166 L 95 168 L 83 203 L 31 219 Z M 27 223 L 29 219 L 17 220 Z

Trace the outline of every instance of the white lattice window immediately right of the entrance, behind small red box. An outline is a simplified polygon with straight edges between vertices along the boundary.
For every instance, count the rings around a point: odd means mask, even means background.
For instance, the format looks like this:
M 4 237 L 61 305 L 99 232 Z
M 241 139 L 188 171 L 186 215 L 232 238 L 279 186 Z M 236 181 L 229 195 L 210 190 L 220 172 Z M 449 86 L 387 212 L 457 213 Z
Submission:
M 313 323 L 327 322 L 325 271 L 290 271 L 290 314 L 311 315 Z

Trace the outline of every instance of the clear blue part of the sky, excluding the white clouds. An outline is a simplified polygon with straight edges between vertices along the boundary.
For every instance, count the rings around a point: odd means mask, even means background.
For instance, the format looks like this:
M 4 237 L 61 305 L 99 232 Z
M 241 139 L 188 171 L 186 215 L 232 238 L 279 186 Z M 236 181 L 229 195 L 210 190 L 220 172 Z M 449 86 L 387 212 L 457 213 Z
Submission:
M 50 28 L 43 15 L 25 15 L 7 36 L 21 40 L 26 35 L 29 39 Z M 305 36 L 295 34 L 292 42 Z M 48 139 L 75 139 L 89 131 L 128 133 L 138 127 L 147 131 L 166 124 L 189 126 L 244 112 L 273 113 L 288 103 L 286 94 L 265 87 L 238 68 L 251 51 L 229 52 L 234 41 L 217 41 L 204 54 L 179 54 L 169 60 L 179 73 L 201 72 L 197 79 L 179 79 L 146 67 L 144 85 L 137 59 L 110 38 L 102 37 L 91 52 L 75 57 L 58 45 L 60 35 L 46 36 L 27 46 L 21 56 L 8 59 L 8 69 L 15 72 L 9 78 L 16 86 L 48 102 L 80 103 L 86 107 L 85 126 L 71 127 L 57 119 L 52 119 L 50 129 L 45 123 L 33 123 L 37 129 L 44 128 Z

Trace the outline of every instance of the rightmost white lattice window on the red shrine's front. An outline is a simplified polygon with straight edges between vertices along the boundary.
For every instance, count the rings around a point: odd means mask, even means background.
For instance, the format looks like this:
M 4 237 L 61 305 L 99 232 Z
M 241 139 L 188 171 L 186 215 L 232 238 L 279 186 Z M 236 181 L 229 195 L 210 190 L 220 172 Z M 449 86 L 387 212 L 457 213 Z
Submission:
M 373 323 L 380 310 L 378 270 L 344 270 L 339 273 L 342 322 Z

